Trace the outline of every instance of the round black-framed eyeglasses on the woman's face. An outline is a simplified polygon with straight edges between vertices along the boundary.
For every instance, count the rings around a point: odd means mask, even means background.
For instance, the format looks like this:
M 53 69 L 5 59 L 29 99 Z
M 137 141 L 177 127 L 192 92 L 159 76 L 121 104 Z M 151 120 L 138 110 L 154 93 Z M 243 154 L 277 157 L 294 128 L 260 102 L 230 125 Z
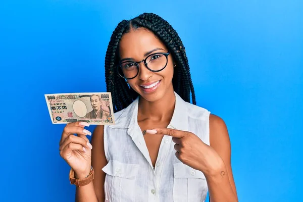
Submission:
M 170 53 L 154 53 L 139 62 L 123 61 L 120 62 L 118 74 L 125 79 L 133 79 L 139 73 L 139 63 L 144 62 L 145 67 L 151 72 L 160 72 L 167 66 L 167 57 Z

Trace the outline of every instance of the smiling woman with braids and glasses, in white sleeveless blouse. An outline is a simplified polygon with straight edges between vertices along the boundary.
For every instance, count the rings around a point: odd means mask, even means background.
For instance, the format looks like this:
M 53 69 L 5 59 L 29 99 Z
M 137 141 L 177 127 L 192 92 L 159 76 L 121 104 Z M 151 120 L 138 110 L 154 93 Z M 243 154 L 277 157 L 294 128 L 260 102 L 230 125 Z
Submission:
M 195 106 L 171 25 L 148 13 L 123 20 L 105 68 L 116 124 L 97 126 L 90 144 L 88 124 L 70 123 L 60 141 L 77 201 L 205 201 L 208 190 L 212 202 L 237 201 L 226 125 Z

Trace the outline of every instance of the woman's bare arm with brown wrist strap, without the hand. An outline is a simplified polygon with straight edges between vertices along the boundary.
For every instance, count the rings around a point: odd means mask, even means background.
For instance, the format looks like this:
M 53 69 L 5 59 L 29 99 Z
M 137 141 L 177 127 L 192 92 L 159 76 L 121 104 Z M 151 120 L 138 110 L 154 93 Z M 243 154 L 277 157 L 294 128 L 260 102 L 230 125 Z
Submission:
M 104 126 L 98 125 L 91 137 L 91 165 L 94 169 L 94 179 L 91 183 L 76 188 L 77 202 L 104 202 L 104 181 L 106 173 L 102 168 L 107 165 L 104 151 Z M 88 171 L 89 173 L 89 171 Z M 88 174 L 87 173 L 87 174 Z M 77 175 L 78 178 L 85 178 L 87 174 Z

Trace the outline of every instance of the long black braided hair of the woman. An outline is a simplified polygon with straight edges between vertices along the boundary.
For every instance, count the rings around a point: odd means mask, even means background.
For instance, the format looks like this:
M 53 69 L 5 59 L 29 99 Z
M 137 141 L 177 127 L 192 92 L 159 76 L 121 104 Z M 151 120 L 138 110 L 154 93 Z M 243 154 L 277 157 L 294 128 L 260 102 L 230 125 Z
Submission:
M 177 65 L 174 68 L 173 87 L 174 91 L 186 102 L 196 105 L 194 89 L 191 81 L 190 71 L 185 47 L 176 30 L 163 18 L 153 13 L 143 13 L 131 20 L 121 21 L 114 30 L 105 57 L 105 78 L 107 91 L 112 93 L 114 112 L 118 112 L 138 96 L 138 93 L 131 89 L 125 79 L 117 72 L 119 65 L 119 42 L 124 33 L 140 27 L 152 31 L 169 49 L 173 61 Z

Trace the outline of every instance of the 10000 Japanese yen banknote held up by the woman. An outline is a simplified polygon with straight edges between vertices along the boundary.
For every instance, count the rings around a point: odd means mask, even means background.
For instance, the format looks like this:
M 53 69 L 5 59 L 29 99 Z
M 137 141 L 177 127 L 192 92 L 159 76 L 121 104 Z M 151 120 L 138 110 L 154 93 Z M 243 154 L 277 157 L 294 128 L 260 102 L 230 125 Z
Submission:
M 53 124 L 115 124 L 110 92 L 45 94 L 45 100 Z

